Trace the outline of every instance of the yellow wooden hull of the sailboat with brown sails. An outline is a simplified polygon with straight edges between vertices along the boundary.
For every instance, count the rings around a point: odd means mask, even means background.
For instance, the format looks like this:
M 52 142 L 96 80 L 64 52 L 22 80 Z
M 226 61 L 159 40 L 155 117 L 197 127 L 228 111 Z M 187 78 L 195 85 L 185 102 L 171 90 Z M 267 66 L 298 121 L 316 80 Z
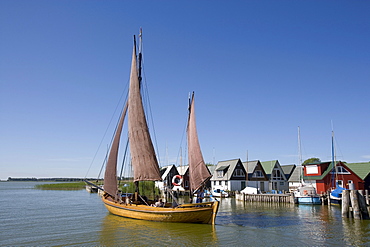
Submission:
M 219 202 L 183 204 L 175 208 L 151 207 L 138 204 L 117 203 L 102 197 L 104 205 L 112 214 L 140 220 L 214 224 Z

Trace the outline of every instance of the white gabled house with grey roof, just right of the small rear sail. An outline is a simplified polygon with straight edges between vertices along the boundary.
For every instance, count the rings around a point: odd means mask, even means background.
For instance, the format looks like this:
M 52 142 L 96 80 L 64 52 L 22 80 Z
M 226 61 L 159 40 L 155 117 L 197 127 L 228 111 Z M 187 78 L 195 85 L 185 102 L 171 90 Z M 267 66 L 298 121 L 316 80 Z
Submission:
M 218 162 L 211 178 L 212 190 L 240 191 L 245 183 L 246 170 L 240 159 Z

